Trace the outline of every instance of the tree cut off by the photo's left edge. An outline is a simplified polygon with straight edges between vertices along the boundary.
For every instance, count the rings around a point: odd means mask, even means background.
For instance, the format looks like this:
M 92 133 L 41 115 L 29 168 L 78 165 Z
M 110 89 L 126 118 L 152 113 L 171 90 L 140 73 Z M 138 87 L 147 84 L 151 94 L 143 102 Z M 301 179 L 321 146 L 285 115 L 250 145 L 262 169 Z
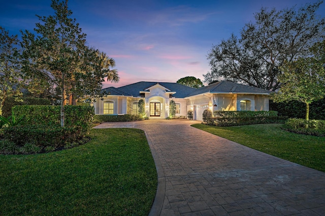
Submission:
M 17 35 L 10 35 L 0 26 L 0 115 L 8 97 L 22 95 L 18 42 Z

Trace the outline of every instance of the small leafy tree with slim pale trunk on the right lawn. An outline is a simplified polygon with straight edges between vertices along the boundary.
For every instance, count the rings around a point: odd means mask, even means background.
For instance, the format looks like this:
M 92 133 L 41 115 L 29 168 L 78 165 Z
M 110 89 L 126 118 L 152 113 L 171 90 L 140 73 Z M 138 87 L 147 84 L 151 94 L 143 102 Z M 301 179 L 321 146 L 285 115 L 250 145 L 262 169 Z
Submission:
M 272 95 L 274 102 L 296 100 L 306 104 L 306 120 L 309 120 L 309 104 L 325 96 L 325 40 L 316 43 L 312 56 L 285 62 L 280 68 L 282 82 L 278 93 Z

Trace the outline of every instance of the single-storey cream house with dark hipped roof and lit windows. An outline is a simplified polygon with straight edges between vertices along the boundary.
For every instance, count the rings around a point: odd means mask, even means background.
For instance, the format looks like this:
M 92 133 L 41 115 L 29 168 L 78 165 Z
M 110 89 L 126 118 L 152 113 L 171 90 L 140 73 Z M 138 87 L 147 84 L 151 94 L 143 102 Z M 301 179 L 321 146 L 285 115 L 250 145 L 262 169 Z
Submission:
M 141 81 L 123 87 L 103 89 L 104 100 L 93 103 L 95 114 L 138 114 L 138 102 L 145 102 L 149 118 L 169 116 L 169 103 L 176 103 L 176 116 L 186 116 L 193 111 L 193 119 L 202 120 L 206 109 L 235 111 L 269 110 L 270 91 L 249 87 L 232 81 L 219 81 L 200 89 L 172 82 Z

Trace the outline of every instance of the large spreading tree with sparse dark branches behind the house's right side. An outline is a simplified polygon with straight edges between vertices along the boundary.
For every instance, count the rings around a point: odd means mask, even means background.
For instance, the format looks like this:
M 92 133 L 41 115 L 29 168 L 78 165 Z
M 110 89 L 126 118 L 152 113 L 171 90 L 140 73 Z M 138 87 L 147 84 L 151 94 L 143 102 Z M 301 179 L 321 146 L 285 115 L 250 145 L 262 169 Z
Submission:
M 303 57 L 314 42 L 324 35 L 325 18 L 319 19 L 316 10 L 322 2 L 276 11 L 262 8 L 254 15 L 255 22 L 220 44 L 208 55 L 211 71 L 204 75 L 206 82 L 231 79 L 267 90 L 280 86 L 278 75 L 283 63 Z

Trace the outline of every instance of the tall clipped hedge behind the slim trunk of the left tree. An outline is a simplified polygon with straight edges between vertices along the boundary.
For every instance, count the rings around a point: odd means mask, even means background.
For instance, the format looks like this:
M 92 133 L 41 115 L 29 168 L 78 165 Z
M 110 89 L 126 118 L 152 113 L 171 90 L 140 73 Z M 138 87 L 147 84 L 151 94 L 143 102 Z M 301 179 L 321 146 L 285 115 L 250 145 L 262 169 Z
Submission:
M 60 125 L 60 106 L 23 105 L 12 108 L 15 115 L 25 115 L 26 124 Z M 82 137 L 90 132 L 94 109 L 90 106 L 64 106 L 66 127 L 77 128 Z

